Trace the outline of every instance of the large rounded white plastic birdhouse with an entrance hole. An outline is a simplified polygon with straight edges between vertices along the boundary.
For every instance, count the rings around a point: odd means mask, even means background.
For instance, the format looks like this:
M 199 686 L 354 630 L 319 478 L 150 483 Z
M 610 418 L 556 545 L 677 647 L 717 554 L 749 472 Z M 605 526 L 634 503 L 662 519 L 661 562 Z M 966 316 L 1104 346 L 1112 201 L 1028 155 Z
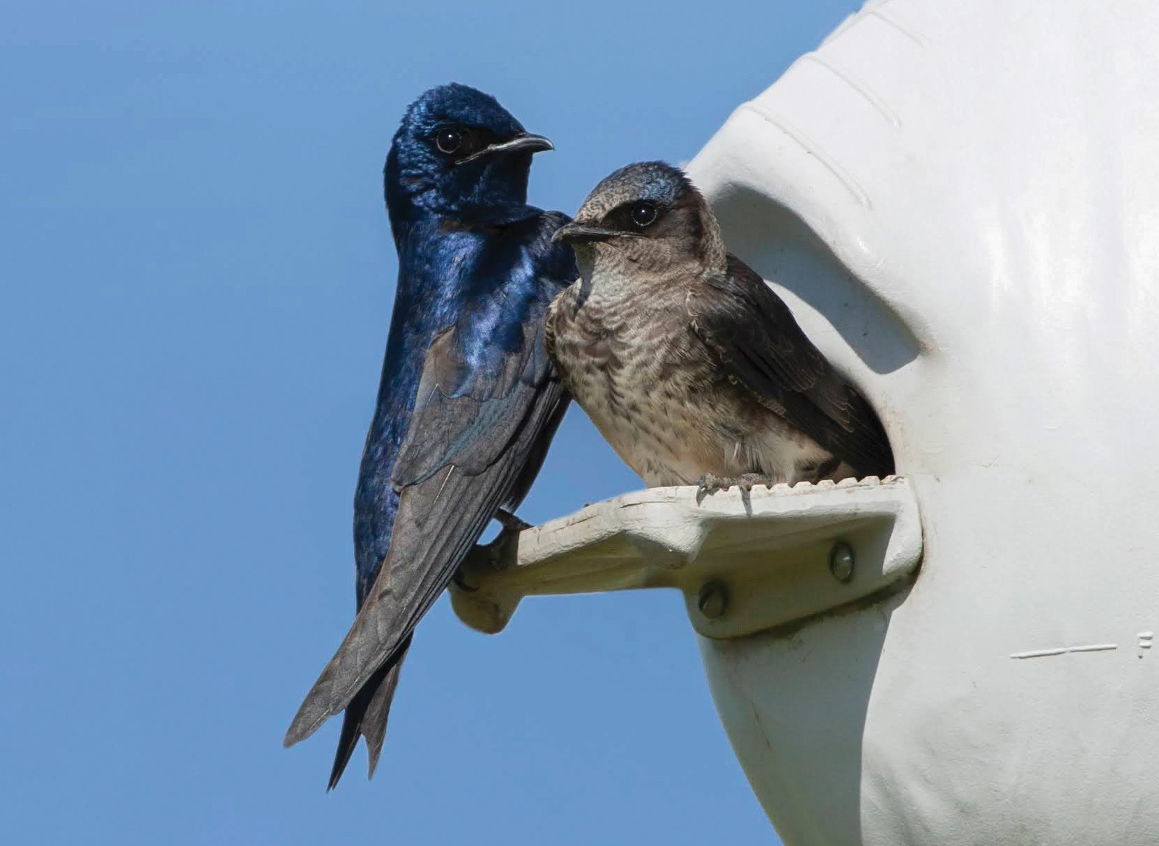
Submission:
M 701 639 L 787 846 L 1159 843 L 1159 3 L 873 3 L 691 165 L 881 411 L 907 593 Z

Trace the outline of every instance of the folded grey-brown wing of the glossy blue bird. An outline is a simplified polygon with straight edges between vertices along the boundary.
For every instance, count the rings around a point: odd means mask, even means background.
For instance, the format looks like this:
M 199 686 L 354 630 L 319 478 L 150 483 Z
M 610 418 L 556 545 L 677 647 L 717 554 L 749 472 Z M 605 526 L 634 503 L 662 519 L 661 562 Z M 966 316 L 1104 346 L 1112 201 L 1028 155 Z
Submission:
M 391 548 L 355 622 L 306 695 L 285 744 L 314 732 L 409 643 L 496 510 L 542 459 L 567 395 L 542 338 L 546 301 L 531 301 L 522 343 L 479 360 L 460 321 L 435 338 L 392 473 L 400 491 Z

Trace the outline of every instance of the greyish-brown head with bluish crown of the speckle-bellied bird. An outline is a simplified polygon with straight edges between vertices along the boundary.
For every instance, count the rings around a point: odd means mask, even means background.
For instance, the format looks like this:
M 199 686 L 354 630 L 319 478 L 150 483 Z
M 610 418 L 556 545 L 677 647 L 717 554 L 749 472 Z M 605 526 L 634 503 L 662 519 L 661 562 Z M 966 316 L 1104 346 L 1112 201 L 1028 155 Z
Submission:
M 727 262 L 708 203 L 683 170 L 662 161 L 606 177 L 555 240 L 571 245 L 584 276 L 603 260 L 657 274 L 723 270 Z

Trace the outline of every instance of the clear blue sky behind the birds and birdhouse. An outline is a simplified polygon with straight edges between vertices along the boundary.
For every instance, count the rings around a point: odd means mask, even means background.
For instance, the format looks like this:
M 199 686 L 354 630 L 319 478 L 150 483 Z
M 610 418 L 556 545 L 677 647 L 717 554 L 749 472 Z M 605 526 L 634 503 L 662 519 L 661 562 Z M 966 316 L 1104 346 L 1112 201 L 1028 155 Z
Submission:
M 282 734 L 353 610 L 395 257 L 381 163 L 458 80 L 556 143 L 531 198 L 690 159 L 857 3 L 8 3 L 8 843 L 765 844 L 675 593 L 423 621 L 374 781 Z M 663 9 L 661 12 L 659 9 Z M 531 520 L 639 480 L 573 410 Z

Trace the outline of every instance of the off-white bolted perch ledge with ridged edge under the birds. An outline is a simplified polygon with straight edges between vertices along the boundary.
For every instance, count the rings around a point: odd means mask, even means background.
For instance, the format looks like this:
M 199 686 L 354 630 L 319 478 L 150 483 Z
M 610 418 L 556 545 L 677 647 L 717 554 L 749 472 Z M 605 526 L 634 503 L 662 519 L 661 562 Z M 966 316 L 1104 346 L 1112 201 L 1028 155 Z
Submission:
M 838 545 L 850 564 L 840 578 L 830 564 Z M 527 528 L 497 550 L 476 548 L 451 604 L 472 628 L 495 633 L 524 596 L 676 588 L 697 632 L 739 637 L 905 584 L 920 557 L 905 479 L 710 495 L 651 488 Z M 716 595 L 707 614 L 706 585 Z

